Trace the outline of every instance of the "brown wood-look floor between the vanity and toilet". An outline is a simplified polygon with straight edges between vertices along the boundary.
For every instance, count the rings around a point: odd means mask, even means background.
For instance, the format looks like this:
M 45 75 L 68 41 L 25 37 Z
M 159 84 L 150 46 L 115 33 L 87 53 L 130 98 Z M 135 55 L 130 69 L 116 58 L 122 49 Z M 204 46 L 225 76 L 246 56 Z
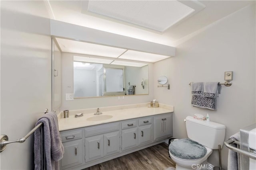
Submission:
M 175 162 L 169 158 L 168 145 L 160 143 L 84 170 L 165 170 L 175 168 Z

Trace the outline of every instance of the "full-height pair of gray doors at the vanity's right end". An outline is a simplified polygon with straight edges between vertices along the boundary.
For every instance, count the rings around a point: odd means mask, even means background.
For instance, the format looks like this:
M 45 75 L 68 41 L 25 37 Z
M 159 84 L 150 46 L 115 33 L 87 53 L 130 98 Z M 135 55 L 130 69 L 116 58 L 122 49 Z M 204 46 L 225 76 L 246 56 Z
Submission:
M 154 116 L 154 141 L 172 136 L 172 114 Z

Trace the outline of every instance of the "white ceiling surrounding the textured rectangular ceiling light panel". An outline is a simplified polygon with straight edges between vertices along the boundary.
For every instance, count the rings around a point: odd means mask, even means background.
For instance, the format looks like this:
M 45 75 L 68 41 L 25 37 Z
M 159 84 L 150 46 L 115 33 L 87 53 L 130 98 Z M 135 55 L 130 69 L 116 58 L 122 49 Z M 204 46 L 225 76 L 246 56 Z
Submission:
M 49 9 L 51 9 L 50 13 L 52 14 L 52 19 L 173 47 L 176 47 L 180 40 L 186 38 L 188 35 L 194 33 L 195 31 L 198 31 L 207 25 L 210 25 L 215 21 L 224 18 L 225 16 L 228 16 L 229 14 L 232 14 L 241 8 L 244 8 L 249 4 L 255 3 L 254 1 L 246 0 L 196 1 L 204 5 L 205 8 L 193 16 L 178 22 L 178 24 L 174 24 L 165 31 L 159 32 L 138 26 L 136 24 L 126 23 L 122 20 L 100 16 L 92 12 L 84 12 L 84 4 L 88 4 L 88 1 L 50 0 L 48 2 L 50 5 Z M 189 4 L 192 1 L 182 0 L 180 2 Z

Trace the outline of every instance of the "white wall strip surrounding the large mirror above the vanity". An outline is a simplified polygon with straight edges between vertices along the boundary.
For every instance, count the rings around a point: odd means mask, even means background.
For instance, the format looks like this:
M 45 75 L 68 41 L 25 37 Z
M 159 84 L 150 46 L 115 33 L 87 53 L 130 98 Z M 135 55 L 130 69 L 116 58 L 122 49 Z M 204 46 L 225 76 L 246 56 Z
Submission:
M 73 93 L 73 56 L 74 53 L 62 53 L 61 65 L 62 65 L 62 106 L 61 110 L 73 110 L 73 109 L 86 109 L 94 107 L 106 107 L 106 106 L 118 106 L 125 104 L 136 104 L 150 102 L 154 96 L 154 83 L 153 83 L 153 64 L 148 65 L 148 74 L 151 75 L 148 80 L 149 94 L 138 96 L 124 96 L 118 99 L 118 96 L 104 96 L 94 98 L 76 98 L 71 101 L 65 100 L 66 93 Z

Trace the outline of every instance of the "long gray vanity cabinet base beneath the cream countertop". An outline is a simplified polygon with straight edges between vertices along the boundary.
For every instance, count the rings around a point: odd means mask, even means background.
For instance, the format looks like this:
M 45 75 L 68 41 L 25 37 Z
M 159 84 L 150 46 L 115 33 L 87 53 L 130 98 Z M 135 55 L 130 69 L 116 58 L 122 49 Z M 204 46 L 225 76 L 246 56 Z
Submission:
M 172 137 L 172 113 L 71 129 L 60 135 L 64 146 L 60 170 L 81 170 Z

